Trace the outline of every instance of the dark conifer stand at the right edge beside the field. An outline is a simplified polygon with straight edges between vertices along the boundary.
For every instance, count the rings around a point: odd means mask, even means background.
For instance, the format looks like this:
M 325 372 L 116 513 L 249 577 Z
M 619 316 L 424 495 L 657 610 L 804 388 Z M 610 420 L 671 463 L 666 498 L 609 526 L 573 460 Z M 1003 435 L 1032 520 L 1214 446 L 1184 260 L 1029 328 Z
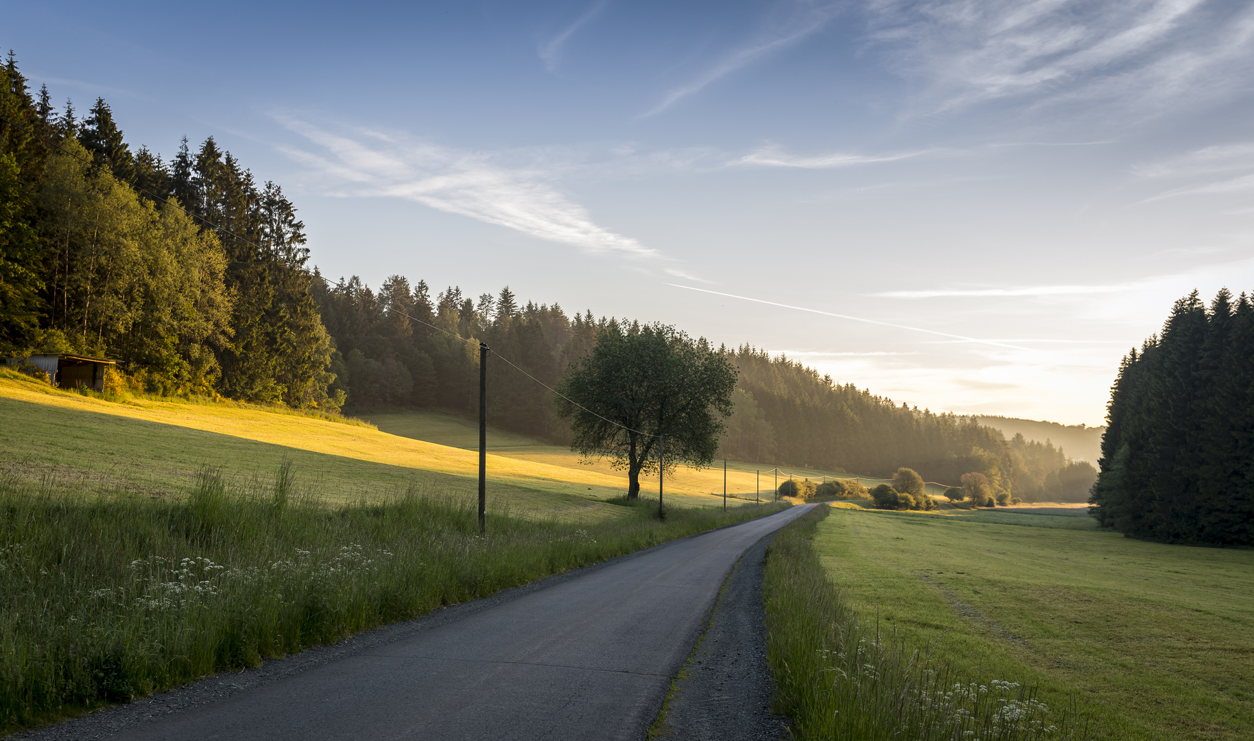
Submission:
M 1254 545 L 1254 307 L 1194 291 L 1111 391 L 1097 520 L 1135 538 Z

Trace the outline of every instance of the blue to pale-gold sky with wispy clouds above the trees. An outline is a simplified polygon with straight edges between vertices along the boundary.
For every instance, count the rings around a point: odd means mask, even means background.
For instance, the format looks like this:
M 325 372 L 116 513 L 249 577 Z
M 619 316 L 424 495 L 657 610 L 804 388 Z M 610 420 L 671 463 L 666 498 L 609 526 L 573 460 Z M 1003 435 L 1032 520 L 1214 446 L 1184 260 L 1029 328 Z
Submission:
M 213 137 L 312 262 L 749 344 L 933 411 L 1102 424 L 1254 290 L 1254 4 L 4 3 L 132 145 Z

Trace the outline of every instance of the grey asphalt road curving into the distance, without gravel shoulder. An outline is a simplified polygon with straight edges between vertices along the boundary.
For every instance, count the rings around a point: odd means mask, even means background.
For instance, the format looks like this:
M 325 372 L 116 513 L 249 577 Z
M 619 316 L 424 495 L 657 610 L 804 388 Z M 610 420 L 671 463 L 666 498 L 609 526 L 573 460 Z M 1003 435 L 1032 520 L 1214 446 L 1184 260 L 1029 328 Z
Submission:
M 640 741 L 732 565 L 806 509 L 652 548 L 108 735 Z

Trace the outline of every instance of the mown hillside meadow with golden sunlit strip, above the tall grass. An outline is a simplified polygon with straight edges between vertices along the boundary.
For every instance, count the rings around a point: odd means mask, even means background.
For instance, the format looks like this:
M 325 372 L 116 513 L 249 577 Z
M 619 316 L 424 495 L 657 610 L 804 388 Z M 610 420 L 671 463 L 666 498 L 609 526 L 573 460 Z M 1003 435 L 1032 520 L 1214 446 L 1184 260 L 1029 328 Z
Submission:
M 302 485 L 329 503 L 377 499 L 415 483 L 454 497 L 478 490 L 478 454 L 461 446 L 398 436 L 260 406 L 173 399 L 108 400 L 51 389 L 0 371 L 0 468 L 49 491 L 134 491 L 186 495 L 204 466 L 233 480 L 268 479 L 286 456 Z M 443 415 L 423 418 L 439 423 Z M 466 423 L 449 425 L 464 434 Z M 439 433 L 439 425 L 434 424 Z M 478 431 L 474 430 L 475 445 Z M 441 439 L 439 434 L 429 435 Z M 517 443 L 493 431 L 494 443 Z M 616 517 L 603 500 L 626 490 L 626 476 L 543 455 L 488 456 L 489 502 L 519 515 Z M 561 449 L 557 449 L 561 450 Z M 721 486 L 721 484 L 720 484 Z M 721 504 L 681 475 L 667 486 L 676 504 Z M 719 489 L 721 491 L 721 488 Z

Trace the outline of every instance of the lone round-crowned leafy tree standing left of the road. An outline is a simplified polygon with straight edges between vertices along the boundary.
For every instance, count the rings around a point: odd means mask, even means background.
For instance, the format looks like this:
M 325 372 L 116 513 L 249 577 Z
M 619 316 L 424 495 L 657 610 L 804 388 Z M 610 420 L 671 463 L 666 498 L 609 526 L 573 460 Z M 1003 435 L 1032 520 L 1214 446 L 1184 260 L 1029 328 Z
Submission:
M 722 418 L 731 414 L 736 369 L 705 339 L 675 327 L 609 323 L 558 385 L 557 413 L 571 420 L 571 450 L 607 456 L 627 469 L 627 497 L 640 497 L 641 473 L 709 465 L 719 451 Z

